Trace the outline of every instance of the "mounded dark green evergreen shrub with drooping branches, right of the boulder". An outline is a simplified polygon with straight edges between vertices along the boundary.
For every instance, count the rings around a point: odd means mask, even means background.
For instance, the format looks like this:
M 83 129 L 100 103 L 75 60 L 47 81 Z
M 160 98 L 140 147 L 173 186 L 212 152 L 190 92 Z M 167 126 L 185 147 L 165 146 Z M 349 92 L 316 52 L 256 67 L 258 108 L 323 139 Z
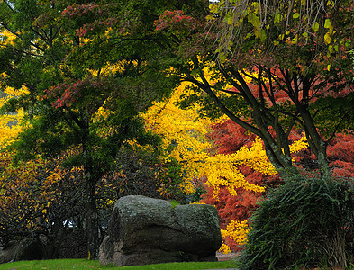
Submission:
M 241 269 L 347 266 L 353 191 L 331 178 L 292 179 L 273 190 L 251 218 Z

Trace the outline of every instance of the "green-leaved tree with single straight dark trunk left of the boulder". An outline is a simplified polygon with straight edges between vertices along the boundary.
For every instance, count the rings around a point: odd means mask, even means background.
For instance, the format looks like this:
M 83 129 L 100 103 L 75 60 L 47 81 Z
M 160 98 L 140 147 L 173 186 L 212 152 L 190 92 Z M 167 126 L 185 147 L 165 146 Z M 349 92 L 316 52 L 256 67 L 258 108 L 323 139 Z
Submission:
M 155 144 L 139 113 L 168 94 L 163 46 L 154 31 L 170 1 L 2 1 L 0 27 L 14 35 L 0 48 L 1 85 L 28 93 L 5 103 L 23 108 L 30 125 L 14 144 L 14 160 L 57 157 L 77 147 L 68 167 L 82 166 L 90 258 L 97 257 L 96 186 L 132 140 Z

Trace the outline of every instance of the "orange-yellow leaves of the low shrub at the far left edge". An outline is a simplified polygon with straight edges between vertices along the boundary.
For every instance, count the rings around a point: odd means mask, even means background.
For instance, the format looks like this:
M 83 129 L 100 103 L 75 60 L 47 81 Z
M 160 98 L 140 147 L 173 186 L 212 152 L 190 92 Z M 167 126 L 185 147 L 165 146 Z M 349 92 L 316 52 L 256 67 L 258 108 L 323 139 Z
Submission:
M 28 229 L 38 224 L 36 217 L 50 223 L 50 206 L 59 202 L 56 200 L 60 200 L 63 191 L 59 186 L 69 179 L 73 181 L 71 176 L 82 179 L 82 169 L 63 169 L 63 157 L 51 161 L 37 158 L 14 166 L 13 157 L 14 153 L 0 151 L 0 209 L 7 215 L 3 218 L 20 222 Z

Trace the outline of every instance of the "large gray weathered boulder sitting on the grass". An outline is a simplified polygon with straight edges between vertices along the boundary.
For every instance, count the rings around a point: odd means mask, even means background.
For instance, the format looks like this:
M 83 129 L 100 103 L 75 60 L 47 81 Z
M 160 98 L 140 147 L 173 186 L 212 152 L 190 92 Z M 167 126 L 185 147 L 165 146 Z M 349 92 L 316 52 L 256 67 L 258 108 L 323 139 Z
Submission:
M 212 205 L 172 206 L 144 196 L 115 202 L 101 265 L 136 266 L 182 261 L 217 261 L 222 236 Z

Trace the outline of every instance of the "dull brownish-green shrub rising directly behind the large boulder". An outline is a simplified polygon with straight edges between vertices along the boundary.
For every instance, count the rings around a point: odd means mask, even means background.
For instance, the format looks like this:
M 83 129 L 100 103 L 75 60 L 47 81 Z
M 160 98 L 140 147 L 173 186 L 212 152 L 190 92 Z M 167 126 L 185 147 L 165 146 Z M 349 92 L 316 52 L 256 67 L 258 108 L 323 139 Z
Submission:
M 124 146 L 99 188 L 106 194 L 105 201 L 115 202 L 126 195 L 177 199 L 181 169 L 174 168 L 176 174 L 171 174 L 170 166 L 159 159 L 159 148 Z M 107 205 L 103 204 L 104 209 Z

